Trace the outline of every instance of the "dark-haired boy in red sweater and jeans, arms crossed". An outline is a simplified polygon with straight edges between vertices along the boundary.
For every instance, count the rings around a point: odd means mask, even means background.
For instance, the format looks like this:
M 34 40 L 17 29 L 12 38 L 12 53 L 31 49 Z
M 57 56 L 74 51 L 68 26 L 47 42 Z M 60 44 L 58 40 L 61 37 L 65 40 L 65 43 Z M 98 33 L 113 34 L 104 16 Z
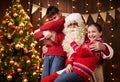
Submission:
M 66 53 L 62 47 L 65 17 L 61 16 L 59 9 L 55 6 L 47 9 L 46 16 L 49 22 L 34 32 L 35 38 L 43 41 L 47 48 L 44 54 L 42 78 L 63 69 L 66 60 Z

